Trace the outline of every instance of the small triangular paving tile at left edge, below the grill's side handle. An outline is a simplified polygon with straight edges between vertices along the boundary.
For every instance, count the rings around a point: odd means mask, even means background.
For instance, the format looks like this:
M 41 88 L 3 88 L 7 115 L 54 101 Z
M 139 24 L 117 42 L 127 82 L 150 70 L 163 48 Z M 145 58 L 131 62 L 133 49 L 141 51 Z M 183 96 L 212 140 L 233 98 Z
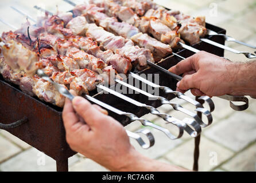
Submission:
M 13 143 L 0 136 L 0 162 L 20 152 L 21 148 L 18 148 L 18 146 L 15 146 Z

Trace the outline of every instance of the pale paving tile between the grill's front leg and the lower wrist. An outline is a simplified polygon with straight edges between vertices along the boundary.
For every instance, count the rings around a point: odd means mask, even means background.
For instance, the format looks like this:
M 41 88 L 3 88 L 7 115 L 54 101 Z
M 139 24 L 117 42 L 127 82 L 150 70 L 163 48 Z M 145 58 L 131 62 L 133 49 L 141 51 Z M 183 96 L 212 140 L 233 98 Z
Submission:
M 69 167 L 70 172 L 109 172 L 108 169 L 97 164 L 95 161 L 85 158 Z

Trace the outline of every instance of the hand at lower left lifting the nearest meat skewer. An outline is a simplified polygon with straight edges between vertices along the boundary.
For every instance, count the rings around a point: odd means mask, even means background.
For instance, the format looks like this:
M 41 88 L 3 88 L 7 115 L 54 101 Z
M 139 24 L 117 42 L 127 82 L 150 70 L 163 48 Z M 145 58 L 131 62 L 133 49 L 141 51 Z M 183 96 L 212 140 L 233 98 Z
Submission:
M 83 97 L 72 102 L 66 98 L 63 121 L 70 148 L 110 170 L 125 169 L 131 163 L 131 154 L 136 154 L 123 126 Z

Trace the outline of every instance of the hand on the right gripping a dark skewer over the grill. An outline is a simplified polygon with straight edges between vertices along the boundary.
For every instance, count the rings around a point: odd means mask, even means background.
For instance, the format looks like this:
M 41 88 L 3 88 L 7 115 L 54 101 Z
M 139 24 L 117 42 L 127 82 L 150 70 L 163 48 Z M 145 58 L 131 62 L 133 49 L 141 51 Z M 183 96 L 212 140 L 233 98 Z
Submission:
M 227 59 L 200 51 L 170 67 L 169 71 L 183 74 L 177 83 L 177 91 L 191 89 L 195 96 L 222 96 L 237 94 L 234 90 L 238 66 Z

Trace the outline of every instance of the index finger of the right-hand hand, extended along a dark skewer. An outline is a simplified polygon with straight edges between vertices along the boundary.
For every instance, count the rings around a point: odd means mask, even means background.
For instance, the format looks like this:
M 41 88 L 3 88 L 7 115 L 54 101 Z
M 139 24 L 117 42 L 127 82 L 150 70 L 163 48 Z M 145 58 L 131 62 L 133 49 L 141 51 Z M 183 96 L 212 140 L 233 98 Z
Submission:
M 169 71 L 174 73 L 174 74 L 183 74 L 185 72 L 191 71 L 191 70 L 195 70 L 195 56 L 192 55 L 191 57 L 188 57 L 182 61 L 180 61 L 179 63 L 177 63 L 176 65 L 170 67 Z

